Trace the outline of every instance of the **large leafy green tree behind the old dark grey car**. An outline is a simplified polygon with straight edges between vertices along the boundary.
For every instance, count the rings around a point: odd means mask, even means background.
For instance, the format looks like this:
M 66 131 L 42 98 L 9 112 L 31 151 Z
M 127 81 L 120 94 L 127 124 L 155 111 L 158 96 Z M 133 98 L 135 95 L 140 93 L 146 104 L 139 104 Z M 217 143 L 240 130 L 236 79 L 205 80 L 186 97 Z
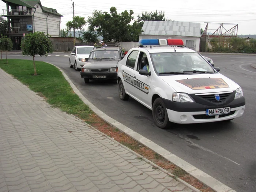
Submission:
M 97 31 L 106 42 L 134 41 L 133 37 L 138 39 L 141 29 L 138 30 L 137 22 L 135 25 L 130 24 L 134 19 L 132 15 L 132 10 L 119 14 L 115 7 L 111 7 L 109 13 L 94 10 L 92 16 L 87 19 L 89 31 Z

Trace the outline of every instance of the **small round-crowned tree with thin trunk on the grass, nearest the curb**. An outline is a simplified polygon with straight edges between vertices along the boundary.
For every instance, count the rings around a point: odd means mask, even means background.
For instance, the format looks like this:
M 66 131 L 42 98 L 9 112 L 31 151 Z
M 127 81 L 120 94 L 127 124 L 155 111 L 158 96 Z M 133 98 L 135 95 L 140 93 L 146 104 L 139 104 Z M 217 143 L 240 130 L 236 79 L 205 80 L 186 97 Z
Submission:
M 26 34 L 25 37 L 22 38 L 22 54 L 23 56 L 32 56 L 33 64 L 34 64 L 34 75 L 37 75 L 37 69 L 35 68 L 35 55 L 39 56 L 45 55 L 48 56 L 48 53 L 53 52 L 52 42 L 46 36 L 44 32 L 35 32 Z

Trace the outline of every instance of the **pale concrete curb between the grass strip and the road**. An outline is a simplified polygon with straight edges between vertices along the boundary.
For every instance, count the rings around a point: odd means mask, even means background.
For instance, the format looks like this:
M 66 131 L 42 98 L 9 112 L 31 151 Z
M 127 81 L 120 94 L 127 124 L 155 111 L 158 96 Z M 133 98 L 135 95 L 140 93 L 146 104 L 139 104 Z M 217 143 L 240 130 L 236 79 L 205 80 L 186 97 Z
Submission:
M 46 62 L 48 63 L 48 62 Z M 51 64 L 51 63 L 49 63 Z M 51 64 L 54 65 L 54 64 Z M 203 184 L 207 185 L 208 187 L 212 188 L 216 192 L 236 192 L 230 187 L 226 186 L 222 182 L 216 180 L 215 178 L 211 177 L 210 175 L 204 173 L 202 170 L 197 169 L 195 166 L 191 165 L 190 163 L 184 161 L 183 159 L 177 157 L 176 155 L 172 154 L 171 152 L 167 151 L 163 147 L 159 146 L 158 144 L 152 142 L 151 140 L 145 138 L 144 136 L 140 135 L 139 133 L 133 131 L 132 129 L 126 127 L 125 125 L 119 123 L 118 121 L 114 120 L 113 118 L 109 117 L 107 114 L 103 113 L 101 110 L 99 110 L 96 106 L 94 106 L 89 100 L 87 100 L 82 93 L 76 88 L 76 86 L 71 82 L 71 80 L 68 78 L 68 76 L 65 74 L 65 72 L 54 65 L 56 68 L 58 68 L 65 79 L 68 81 L 74 92 L 79 96 L 79 98 L 89 106 L 91 110 L 93 110 L 94 113 L 96 113 L 102 120 L 106 121 L 110 125 L 112 125 L 114 128 L 119 129 L 120 131 L 126 133 L 127 135 L 131 136 L 131 138 L 135 139 L 136 141 L 142 143 L 144 146 L 147 146 L 151 150 L 155 151 L 155 153 L 158 153 L 159 155 L 166 158 L 168 161 L 172 162 L 174 165 L 181 167 L 183 170 L 185 170 L 188 174 L 195 177 L 197 180 L 202 182 Z M 135 152 L 134 152 L 135 153 Z M 166 172 L 166 171 L 165 171 Z M 189 185 L 189 184 L 188 184 Z M 191 186 L 191 185 L 189 185 Z M 193 186 L 191 186 L 193 187 Z

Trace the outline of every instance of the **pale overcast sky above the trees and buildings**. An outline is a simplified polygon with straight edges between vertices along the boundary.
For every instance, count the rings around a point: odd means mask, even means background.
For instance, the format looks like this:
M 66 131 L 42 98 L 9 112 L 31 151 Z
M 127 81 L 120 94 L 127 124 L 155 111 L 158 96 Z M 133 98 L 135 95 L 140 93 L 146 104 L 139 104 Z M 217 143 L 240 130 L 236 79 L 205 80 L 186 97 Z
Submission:
M 45 7 L 57 9 L 63 15 L 61 29 L 65 23 L 72 20 L 73 9 L 71 0 L 41 0 Z M 75 15 L 91 16 L 94 10 L 109 11 L 110 7 L 116 7 L 118 12 L 133 10 L 135 19 L 143 11 L 165 12 L 168 19 L 175 21 L 187 21 L 201 23 L 201 28 L 206 27 L 205 22 L 238 24 L 238 35 L 256 34 L 256 0 L 75 0 Z M 0 8 L 6 9 L 5 3 L 0 1 Z M 230 29 L 234 25 L 225 25 Z M 219 27 L 218 24 L 208 26 L 208 32 L 213 33 Z M 87 29 L 87 26 L 84 27 Z

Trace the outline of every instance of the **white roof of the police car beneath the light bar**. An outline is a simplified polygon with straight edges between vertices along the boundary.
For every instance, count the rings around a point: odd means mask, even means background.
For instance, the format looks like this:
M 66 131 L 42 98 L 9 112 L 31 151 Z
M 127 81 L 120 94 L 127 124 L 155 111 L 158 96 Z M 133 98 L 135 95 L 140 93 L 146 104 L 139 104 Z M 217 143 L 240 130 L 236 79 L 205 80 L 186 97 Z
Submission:
M 195 50 L 189 49 L 187 47 L 172 47 L 172 46 L 151 46 L 151 48 L 148 46 L 148 47 L 133 48 L 133 50 L 147 50 L 149 53 L 175 52 L 175 50 L 176 52 L 196 53 Z

